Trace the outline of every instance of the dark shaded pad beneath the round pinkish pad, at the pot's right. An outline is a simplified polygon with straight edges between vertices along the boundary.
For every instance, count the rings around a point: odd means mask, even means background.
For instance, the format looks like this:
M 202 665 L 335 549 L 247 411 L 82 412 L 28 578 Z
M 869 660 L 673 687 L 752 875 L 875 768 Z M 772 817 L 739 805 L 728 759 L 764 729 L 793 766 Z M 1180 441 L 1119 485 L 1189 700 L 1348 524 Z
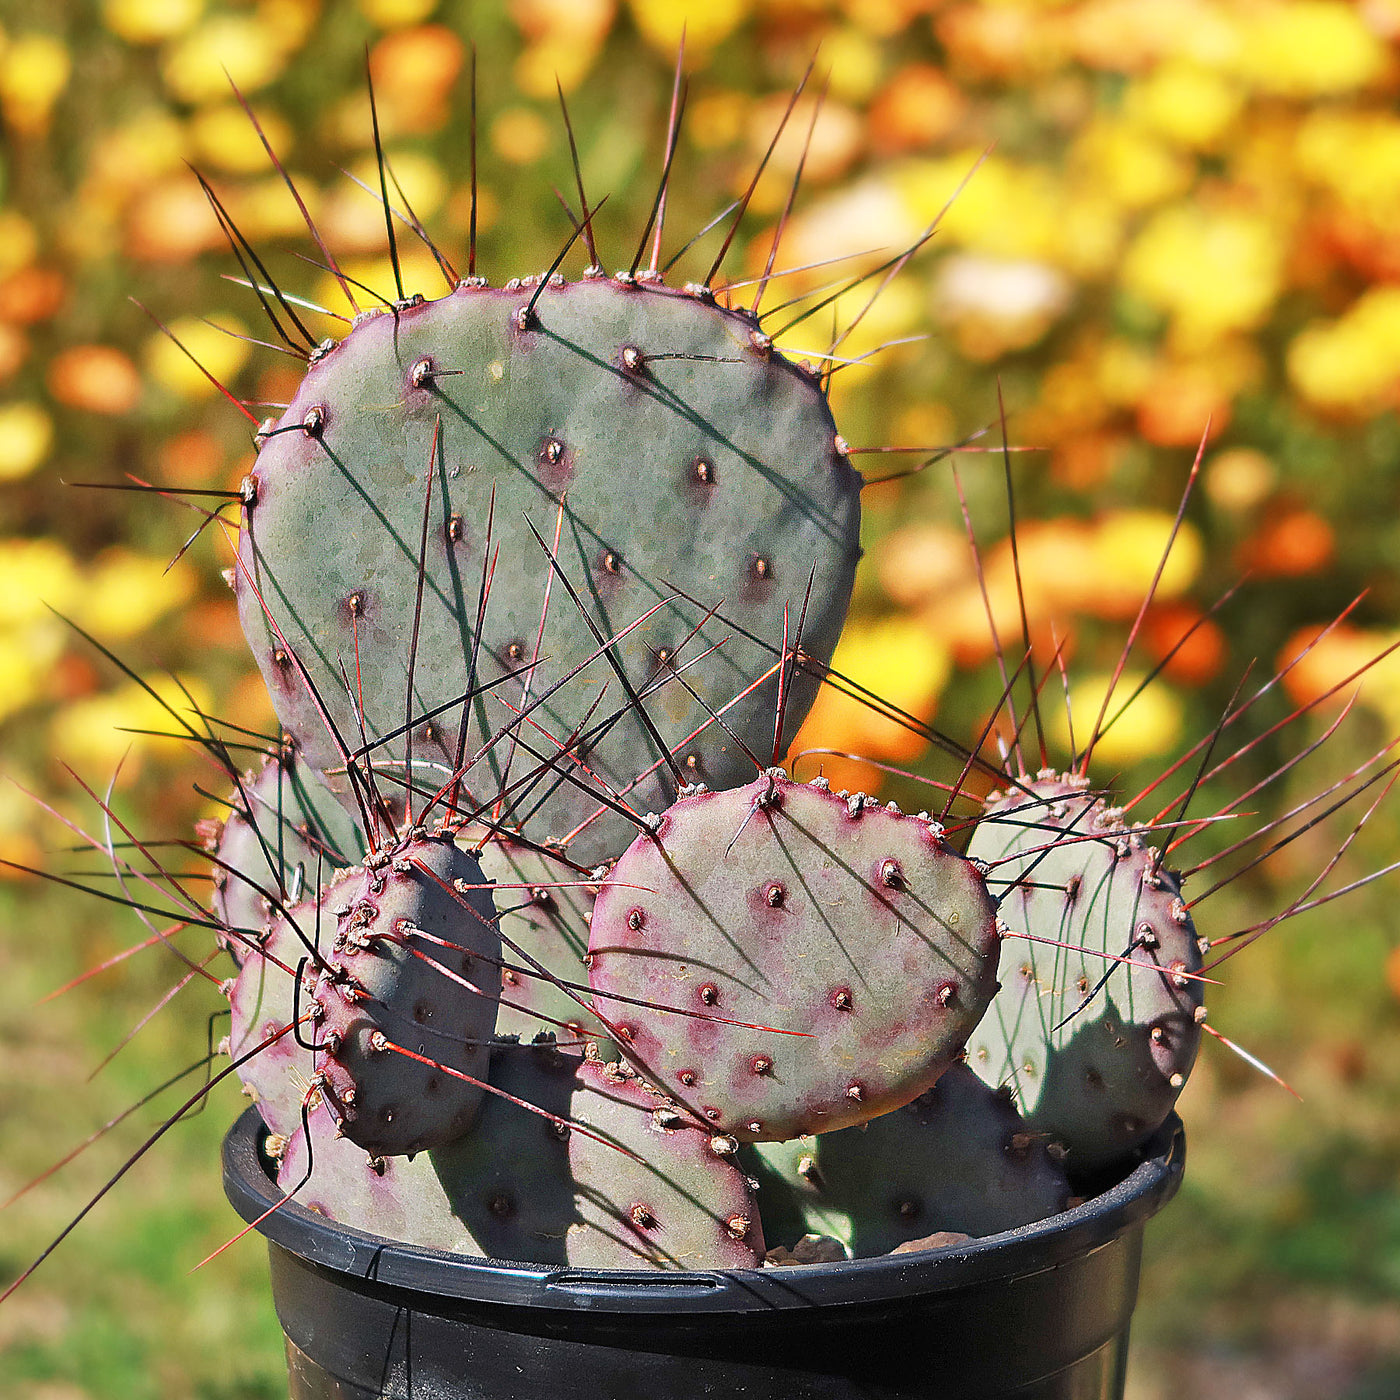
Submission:
M 743 1152 L 771 1239 L 829 1235 L 855 1259 L 944 1231 L 997 1235 L 1054 1215 L 1070 1194 L 1011 1099 L 963 1064 L 861 1127 Z

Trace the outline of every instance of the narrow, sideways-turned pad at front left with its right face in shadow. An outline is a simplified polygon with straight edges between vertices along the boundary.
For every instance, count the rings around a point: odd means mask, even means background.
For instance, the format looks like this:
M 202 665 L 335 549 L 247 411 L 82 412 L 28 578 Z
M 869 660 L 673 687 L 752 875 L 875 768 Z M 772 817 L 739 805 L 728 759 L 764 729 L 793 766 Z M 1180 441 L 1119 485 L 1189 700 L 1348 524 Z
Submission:
M 312 994 L 316 1070 L 375 1156 L 451 1142 L 480 1106 L 501 955 L 483 886 L 448 837 L 409 836 L 322 896 L 335 938 Z

